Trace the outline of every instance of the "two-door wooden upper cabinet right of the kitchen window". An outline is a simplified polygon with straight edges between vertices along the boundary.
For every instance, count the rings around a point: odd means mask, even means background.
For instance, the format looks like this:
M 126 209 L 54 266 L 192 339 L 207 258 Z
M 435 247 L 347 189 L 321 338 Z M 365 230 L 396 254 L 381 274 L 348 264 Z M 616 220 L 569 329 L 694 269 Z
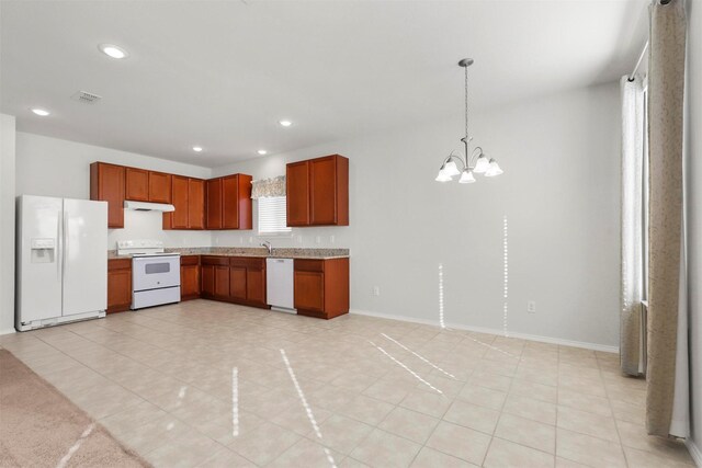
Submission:
M 287 226 L 349 226 L 349 159 L 330 155 L 285 170 Z

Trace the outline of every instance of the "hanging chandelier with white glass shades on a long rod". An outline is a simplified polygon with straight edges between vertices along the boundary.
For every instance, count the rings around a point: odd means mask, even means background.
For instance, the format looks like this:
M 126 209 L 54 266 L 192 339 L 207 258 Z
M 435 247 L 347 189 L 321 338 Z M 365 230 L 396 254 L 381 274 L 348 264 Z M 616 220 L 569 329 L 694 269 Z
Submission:
M 437 182 L 449 182 L 453 180 L 454 175 L 461 174 L 458 183 L 472 184 L 475 182 L 474 173 L 484 174 L 486 178 L 494 178 L 502 173 L 499 164 L 495 159 L 487 159 L 487 156 L 483 152 L 483 148 L 475 147 L 473 152 L 468 152 L 468 145 L 473 139 L 468 136 L 468 67 L 473 65 L 472 58 L 464 58 L 458 61 L 458 66 L 465 70 L 465 136 L 461 138 L 464 146 L 464 153 L 453 150 L 443 160 L 439 175 L 434 179 Z M 458 165 L 461 169 L 458 169 Z

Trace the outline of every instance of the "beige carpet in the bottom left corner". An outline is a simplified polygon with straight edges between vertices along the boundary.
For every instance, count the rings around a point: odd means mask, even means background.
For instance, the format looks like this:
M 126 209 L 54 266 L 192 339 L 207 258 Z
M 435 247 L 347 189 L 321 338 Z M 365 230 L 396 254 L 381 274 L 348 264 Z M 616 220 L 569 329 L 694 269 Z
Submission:
M 0 467 L 148 467 L 100 424 L 0 350 Z

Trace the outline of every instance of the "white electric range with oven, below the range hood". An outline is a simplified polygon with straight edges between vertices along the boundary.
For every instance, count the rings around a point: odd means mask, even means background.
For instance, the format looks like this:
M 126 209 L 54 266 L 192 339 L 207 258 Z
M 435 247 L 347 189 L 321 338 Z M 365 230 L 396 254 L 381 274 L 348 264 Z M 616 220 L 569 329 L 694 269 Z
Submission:
M 117 255 L 132 256 L 132 309 L 180 303 L 180 253 L 160 240 L 117 241 Z

